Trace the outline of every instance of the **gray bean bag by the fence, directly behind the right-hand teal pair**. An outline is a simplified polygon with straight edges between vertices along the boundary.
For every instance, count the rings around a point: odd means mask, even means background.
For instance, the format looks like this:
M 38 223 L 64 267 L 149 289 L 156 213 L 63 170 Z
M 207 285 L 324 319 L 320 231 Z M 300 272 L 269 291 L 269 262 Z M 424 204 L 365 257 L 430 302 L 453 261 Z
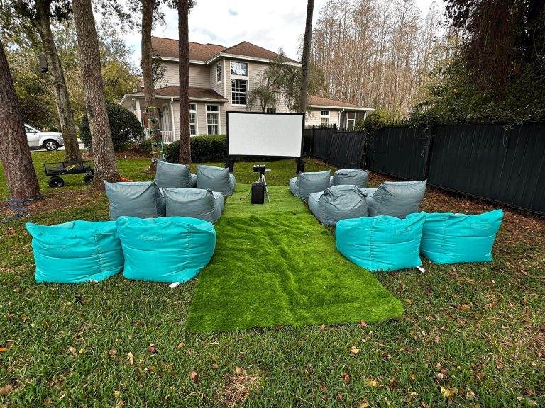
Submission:
M 424 193 L 424 181 L 385 181 L 378 188 L 362 188 L 368 195 L 369 215 L 392 215 L 404 218 L 418 212 Z

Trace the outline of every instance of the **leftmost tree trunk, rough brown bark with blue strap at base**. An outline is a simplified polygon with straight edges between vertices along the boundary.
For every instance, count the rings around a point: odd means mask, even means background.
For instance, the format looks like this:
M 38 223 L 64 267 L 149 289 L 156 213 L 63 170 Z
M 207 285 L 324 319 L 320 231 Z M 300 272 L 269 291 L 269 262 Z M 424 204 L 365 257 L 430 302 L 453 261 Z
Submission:
M 0 38 L 0 158 L 12 200 L 40 198 L 23 115 Z M 23 204 L 23 203 L 21 203 Z

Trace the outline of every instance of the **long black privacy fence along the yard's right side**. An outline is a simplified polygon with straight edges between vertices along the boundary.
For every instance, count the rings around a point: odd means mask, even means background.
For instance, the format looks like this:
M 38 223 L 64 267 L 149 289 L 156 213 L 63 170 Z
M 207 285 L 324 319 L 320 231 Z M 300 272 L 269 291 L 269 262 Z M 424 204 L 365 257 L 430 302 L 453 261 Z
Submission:
M 427 131 L 391 126 L 368 138 L 334 129 L 309 132 L 314 138 L 308 154 L 332 166 L 427 179 L 429 186 L 545 214 L 545 123 L 443 125 Z

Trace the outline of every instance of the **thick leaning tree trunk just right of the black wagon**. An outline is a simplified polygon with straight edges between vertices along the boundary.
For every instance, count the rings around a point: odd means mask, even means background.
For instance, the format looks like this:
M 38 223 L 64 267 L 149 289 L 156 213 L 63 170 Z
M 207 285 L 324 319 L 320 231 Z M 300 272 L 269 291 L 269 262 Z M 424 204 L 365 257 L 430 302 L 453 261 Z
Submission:
M 91 0 L 73 0 L 72 7 L 82 67 L 83 96 L 93 145 L 94 187 L 104 188 L 104 181 L 119 181 L 119 174 L 106 113 L 99 40 Z

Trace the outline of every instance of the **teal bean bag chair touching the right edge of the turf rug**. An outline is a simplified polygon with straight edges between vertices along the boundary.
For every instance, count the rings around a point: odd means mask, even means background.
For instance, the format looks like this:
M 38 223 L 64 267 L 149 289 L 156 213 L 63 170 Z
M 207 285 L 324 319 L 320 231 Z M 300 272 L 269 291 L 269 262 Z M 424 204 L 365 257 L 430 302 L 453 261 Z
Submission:
M 416 268 L 420 261 L 420 239 L 426 214 L 401 220 L 390 215 L 353 218 L 337 222 L 337 249 L 356 265 L 369 271 Z

